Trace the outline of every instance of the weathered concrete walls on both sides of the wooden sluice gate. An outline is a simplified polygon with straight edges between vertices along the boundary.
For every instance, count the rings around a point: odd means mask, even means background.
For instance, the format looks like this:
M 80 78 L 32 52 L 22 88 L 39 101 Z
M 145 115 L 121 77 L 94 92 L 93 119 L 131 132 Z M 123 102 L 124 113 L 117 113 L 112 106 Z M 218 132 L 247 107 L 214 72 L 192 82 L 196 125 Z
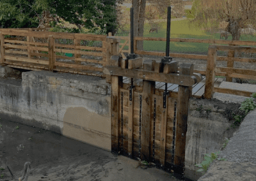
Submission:
M 7 67 L 1 67 L 1 76 Z M 102 78 L 28 71 L 22 80 L 0 79 L 0 117 L 35 126 L 111 151 L 111 86 Z M 185 175 L 201 177 L 195 164 L 217 152 L 237 129 L 230 128 L 239 103 L 191 98 Z

